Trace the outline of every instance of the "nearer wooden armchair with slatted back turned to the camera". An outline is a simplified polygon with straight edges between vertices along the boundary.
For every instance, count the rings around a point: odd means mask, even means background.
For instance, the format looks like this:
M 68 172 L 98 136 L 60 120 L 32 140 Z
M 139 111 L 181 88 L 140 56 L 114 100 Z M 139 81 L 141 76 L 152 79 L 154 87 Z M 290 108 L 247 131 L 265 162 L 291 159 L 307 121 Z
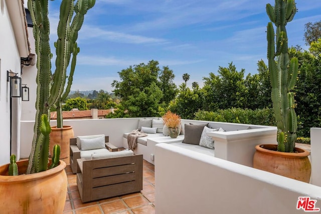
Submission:
M 78 159 L 77 186 L 82 202 L 142 190 L 142 161 L 142 154 L 93 160 Z

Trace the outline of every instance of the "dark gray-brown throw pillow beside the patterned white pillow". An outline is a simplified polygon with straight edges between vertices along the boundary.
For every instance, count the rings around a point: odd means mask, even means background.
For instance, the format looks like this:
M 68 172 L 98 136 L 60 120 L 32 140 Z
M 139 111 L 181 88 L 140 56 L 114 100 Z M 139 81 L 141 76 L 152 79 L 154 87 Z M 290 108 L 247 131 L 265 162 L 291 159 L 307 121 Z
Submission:
M 200 125 L 185 124 L 185 127 L 184 127 L 185 135 L 182 143 L 199 145 L 204 126 L 207 126 L 207 125 L 208 123 L 200 124 Z

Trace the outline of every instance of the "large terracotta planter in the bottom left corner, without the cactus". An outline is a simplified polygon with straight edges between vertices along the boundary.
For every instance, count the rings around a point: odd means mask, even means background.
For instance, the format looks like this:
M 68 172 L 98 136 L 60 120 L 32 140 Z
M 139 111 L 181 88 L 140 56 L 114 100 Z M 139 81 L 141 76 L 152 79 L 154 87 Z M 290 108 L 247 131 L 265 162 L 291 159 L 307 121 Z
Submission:
M 19 174 L 26 172 L 29 160 L 18 161 Z M 59 213 L 67 194 L 66 163 L 34 174 L 9 176 L 9 164 L 0 166 L 1 213 Z

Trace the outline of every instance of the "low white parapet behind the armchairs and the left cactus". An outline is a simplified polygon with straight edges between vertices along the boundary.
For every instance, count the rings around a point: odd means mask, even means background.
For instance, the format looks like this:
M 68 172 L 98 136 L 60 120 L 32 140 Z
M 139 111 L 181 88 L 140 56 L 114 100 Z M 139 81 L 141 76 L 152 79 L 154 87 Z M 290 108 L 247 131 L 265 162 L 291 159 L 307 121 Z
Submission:
M 21 121 L 20 158 L 29 157 L 34 124 L 34 121 Z M 55 126 L 57 123 L 53 120 L 50 124 Z M 109 142 L 122 147 L 123 133 L 136 129 L 138 118 L 64 120 L 64 125 L 73 127 L 74 136 L 104 134 L 109 136 Z

